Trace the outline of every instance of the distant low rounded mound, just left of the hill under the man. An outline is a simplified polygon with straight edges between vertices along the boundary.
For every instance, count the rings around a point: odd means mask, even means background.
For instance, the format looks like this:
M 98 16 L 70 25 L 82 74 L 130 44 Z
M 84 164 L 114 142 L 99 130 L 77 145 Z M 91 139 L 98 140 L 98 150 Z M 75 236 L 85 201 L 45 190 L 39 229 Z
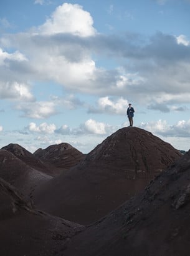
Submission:
M 50 145 L 46 149 L 37 149 L 34 155 L 46 164 L 60 169 L 69 169 L 85 158 L 82 152 L 68 143 Z

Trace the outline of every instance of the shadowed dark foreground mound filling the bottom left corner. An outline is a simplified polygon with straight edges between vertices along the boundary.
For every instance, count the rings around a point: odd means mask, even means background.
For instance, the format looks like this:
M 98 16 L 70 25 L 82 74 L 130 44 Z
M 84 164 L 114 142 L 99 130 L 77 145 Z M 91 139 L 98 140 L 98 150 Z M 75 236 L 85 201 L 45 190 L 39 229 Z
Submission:
M 32 208 L 17 190 L 0 178 L 0 254 L 63 255 L 65 243 L 82 227 Z

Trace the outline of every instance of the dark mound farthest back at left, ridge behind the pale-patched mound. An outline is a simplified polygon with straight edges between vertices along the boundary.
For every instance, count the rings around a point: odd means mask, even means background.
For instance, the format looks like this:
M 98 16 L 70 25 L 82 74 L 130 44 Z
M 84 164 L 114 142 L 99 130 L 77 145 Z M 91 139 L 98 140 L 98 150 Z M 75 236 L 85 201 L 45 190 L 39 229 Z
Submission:
M 52 174 L 49 167 L 45 166 L 44 163 L 39 158 L 37 158 L 28 150 L 24 149 L 24 147 L 21 147 L 21 145 L 11 143 L 9 145 L 2 147 L 2 149 L 11 152 L 17 158 L 21 159 L 23 162 L 25 162 L 27 165 L 31 166 L 32 168 L 36 170 L 40 170 L 45 174 L 49 174 L 49 175 Z

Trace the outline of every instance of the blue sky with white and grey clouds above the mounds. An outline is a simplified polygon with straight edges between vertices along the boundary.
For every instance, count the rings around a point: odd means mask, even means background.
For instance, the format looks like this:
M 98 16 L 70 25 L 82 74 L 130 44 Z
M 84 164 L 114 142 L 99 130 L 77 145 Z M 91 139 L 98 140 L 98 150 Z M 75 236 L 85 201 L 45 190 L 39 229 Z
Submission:
M 190 1 L 0 2 L 0 146 L 88 153 L 134 125 L 190 145 Z

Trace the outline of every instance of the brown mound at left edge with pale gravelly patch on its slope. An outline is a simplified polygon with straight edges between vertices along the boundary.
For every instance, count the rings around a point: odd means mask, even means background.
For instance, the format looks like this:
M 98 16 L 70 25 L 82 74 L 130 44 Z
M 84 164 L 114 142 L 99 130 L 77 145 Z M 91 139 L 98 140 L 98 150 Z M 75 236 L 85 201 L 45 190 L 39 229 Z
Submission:
M 0 177 L 25 195 L 29 195 L 37 185 L 52 179 L 51 176 L 33 169 L 4 149 L 0 150 Z

